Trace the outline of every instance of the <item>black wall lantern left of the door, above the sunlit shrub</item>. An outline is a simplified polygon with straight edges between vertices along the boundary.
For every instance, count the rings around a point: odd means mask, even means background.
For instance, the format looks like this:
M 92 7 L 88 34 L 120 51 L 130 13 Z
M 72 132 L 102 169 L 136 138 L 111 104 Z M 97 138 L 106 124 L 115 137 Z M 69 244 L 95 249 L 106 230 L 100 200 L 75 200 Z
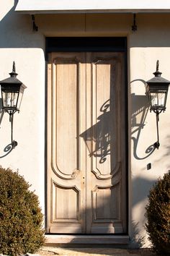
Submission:
M 21 106 L 24 89 L 27 88 L 21 81 L 17 79 L 15 72 L 15 63 L 13 62 L 12 72 L 10 77 L 0 81 L 2 109 L 9 114 L 9 121 L 12 124 L 12 148 L 17 146 L 17 141 L 13 140 L 13 119 L 14 113 L 19 112 Z

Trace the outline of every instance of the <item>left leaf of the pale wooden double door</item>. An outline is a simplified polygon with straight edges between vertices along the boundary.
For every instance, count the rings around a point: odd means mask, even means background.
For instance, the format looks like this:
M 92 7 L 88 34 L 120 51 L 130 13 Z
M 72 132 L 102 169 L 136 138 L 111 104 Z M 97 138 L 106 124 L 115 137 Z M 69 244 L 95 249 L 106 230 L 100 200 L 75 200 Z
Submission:
M 48 232 L 84 233 L 84 53 L 51 54 L 48 64 Z M 50 163 L 50 164 L 49 164 Z

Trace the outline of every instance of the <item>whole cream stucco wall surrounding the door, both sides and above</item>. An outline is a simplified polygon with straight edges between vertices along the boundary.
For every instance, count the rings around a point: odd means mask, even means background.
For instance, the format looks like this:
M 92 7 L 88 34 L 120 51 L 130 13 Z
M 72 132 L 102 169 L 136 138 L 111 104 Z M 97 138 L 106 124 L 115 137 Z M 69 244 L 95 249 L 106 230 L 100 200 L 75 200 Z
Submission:
M 10 143 L 7 114 L 0 113 L 0 164 L 19 169 L 32 184 L 45 209 L 45 36 L 127 36 L 129 120 L 129 234 L 142 243 L 146 231 L 144 212 L 148 191 L 158 176 L 169 170 L 170 93 L 160 115 L 160 148 L 156 142 L 156 116 L 148 111 L 144 81 L 153 77 L 159 59 L 162 76 L 170 80 L 170 14 L 37 14 L 38 32 L 32 32 L 29 14 L 14 12 L 14 1 L 0 1 L 0 80 L 9 76 L 12 61 L 27 89 L 21 111 L 14 115 L 14 140 L 18 146 L 6 155 Z M 146 114 L 146 115 L 145 115 Z M 146 151 L 148 149 L 148 151 Z M 151 149 L 151 150 L 150 150 Z M 149 151 L 150 150 L 150 151 Z M 6 156 L 4 156 L 6 155 Z M 147 170 L 148 163 L 151 169 Z

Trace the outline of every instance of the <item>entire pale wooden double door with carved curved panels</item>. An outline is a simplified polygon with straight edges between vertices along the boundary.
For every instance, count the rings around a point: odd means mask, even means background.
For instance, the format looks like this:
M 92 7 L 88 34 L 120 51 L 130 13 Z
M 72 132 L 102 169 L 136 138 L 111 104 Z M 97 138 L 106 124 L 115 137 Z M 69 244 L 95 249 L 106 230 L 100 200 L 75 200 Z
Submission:
M 48 232 L 127 231 L 125 56 L 49 54 Z

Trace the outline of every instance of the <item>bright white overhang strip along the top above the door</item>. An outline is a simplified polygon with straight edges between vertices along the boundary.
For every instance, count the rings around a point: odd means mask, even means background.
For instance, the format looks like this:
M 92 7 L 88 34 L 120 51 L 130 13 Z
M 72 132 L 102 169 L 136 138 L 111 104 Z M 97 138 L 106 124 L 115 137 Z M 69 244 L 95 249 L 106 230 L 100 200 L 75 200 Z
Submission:
M 22 13 L 170 12 L 170 0 L 19 0 Z

